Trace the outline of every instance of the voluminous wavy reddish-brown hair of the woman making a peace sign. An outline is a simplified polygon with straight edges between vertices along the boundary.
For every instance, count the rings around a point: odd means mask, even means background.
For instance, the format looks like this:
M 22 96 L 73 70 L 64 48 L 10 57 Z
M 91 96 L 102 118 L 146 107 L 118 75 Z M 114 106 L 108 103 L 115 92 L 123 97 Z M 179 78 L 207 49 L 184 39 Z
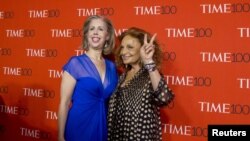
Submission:
M 125 36 L 131 36 L 131 37 L 137 38 L 142 46 L 144 43 L 145 34 L 147 34 L 147 41 L 149 42 L 150 39 L 152 38 L 152 35 L 149 32 L 143 29 L 140 29 L 138 27 L 131 27 L 128 30 L 124 31 L 120 36 L 118 36 L 118 41 L 121 43 L 122 39 Z M 160 49 L 160 45 L 157 40 L 154 40 L 153 44 L 155 45 L 155 52 L 153 55 L 153 60 L 156 63 L 156 66 L 159 68 L 161 64 L 162 51 Z M 121 47 L 118 46 L 115 51 L 115 61 L 116 61 L 117 67 L 122 67 L 123 69 L 126 69 L 126 70 L 130 69 L 131 66 L 125 66 L 123 64 L 122 58 L 120 56 L 120 51 L 121 51 Z M 144 64 L 142 64 L 141 62 L 141 66 L 143 65 Z

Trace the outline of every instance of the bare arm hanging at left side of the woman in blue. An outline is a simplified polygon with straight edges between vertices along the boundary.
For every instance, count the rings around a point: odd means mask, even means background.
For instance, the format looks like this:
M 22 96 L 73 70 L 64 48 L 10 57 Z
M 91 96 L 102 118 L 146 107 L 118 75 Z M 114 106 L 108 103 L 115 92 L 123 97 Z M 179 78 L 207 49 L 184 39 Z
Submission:
M 65 71 L 62 75 L 60 88 L 60 103 L 58 109 L 58 141 L 65 141 L 65 124 L 75 84 L 76 80 L 68 72 Z

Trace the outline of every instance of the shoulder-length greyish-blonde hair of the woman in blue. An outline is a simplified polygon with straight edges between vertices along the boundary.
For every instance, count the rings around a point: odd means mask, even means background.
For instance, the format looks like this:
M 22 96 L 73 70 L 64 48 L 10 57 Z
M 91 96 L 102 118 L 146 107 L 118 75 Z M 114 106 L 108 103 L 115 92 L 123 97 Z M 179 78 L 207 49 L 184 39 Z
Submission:
M 110 54 L 114 47 L 115 47 L 115 30 L 114 30 L 114 26 L 112 24 L 112 22 L 103 16 L 99 16 L 99 15 L 93 15 L 93 16 L 89 16 L 86 21 L 83 24 L 83 49 L 84 50 L 88 50 L 89 46 L 88 46 L 88 40 L 87 40 L 87 33 L 89 31 L 89 24 L 93 19 L 102 19 L 104 21 L 104 23 L 106 23 L 107 25 L 107 32 L 108 32 L 108 36 L 110 37 L 109 40 L 105 43 L 107 45 L 105 45 L 105 47 L 103 48 L 103 54 L 104 55 L 108 55 Z

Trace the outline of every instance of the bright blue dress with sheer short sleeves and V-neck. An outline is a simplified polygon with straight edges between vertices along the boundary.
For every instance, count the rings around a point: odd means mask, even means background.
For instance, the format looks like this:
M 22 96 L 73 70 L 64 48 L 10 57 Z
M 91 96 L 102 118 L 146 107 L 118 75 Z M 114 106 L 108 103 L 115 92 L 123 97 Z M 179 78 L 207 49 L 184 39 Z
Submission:
M 108 99 L 116 88 L 116 66 L 105 59 L 104 82 L 90 58 L 83 54 L 70 58 L 63 70 L 76 79 L 65 127 L 66 141 L 106 141 Z

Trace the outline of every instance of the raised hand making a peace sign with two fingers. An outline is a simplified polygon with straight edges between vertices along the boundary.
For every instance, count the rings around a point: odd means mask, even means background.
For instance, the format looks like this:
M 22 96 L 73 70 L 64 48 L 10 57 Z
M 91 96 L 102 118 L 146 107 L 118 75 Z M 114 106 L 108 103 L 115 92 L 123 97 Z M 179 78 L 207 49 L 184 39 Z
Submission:
M 144 43 L 140 49 L 141 59 L 144 64 L 153 62 L 153 55 L 155 52 L 155 45 L 153 43 L 156 35 L 156 33 L 153 35 L 149 43 L 147 42 L 147 34 L 144 35 Z

